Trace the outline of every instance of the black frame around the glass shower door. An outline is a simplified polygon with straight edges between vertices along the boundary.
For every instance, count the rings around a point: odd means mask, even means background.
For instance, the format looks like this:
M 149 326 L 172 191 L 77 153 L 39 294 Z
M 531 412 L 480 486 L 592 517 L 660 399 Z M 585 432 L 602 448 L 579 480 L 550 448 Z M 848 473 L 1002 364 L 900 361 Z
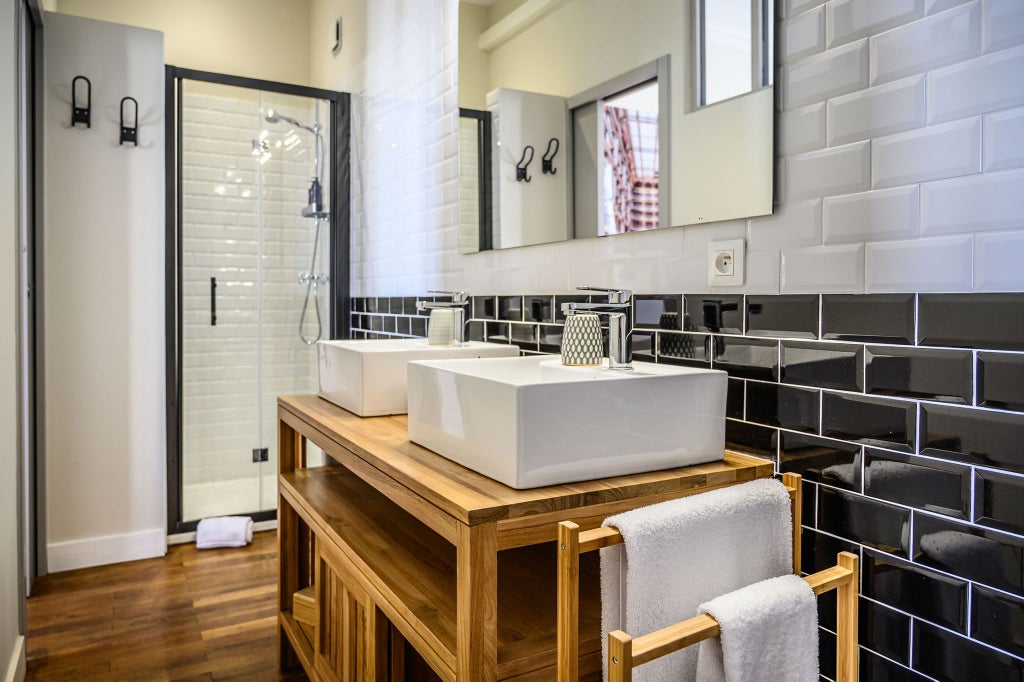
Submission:
M 331 278 L 330 338 L 350 336 L 349 301 L 349 220 L 351 206 L 351 97 L 346 92 L 323 90 L 257 78 L 214 74 L 194 69 L 165 68 L 165 185 L 166 185 L 166 278 L 165 338 L 167 376 L 167 531 L 188 532 L 197 521 L 181 520 L 181 83 L 184 80 L 219 83 L 236 87 L 325 99 L 330 102 L 331 186 L 330 253 Z M 276 518 L 276 511 L 251 514 L 255 520 Z

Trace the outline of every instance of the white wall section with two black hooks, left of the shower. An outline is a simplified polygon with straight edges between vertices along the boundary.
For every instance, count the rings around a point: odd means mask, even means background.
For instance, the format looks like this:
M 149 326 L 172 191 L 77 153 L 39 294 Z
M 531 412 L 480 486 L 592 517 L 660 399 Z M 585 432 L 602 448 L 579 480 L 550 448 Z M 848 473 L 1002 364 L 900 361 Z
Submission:
M 161 555 L 165 540 L 163 36 L 46 19 L 44 357 L 50 571 Z M 92 79 L 92 127 L 70 86 Z M 139 144 L 118 144 L 119 102 Z

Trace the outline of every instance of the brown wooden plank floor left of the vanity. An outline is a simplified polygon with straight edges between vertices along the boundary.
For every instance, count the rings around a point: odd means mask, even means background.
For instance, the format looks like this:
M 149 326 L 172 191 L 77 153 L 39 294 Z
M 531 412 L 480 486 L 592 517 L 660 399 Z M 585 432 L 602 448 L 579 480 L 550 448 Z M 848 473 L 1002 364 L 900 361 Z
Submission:
M 40 579 L 28 679 L 305 680 L 278 670 L 276 581 L 273 531 Z

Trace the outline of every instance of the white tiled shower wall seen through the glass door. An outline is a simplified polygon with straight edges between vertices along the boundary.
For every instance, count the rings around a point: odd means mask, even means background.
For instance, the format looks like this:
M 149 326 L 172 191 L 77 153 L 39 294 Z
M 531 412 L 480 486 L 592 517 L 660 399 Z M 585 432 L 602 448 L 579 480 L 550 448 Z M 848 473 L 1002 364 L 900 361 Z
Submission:
M 252 462 L 252 449 L 275 451 L 276 395 L 316 387 L 315 351 L 299 340 L 313 222 L 300 216 L 312 174 L 311 139 L 287 139 L 290 126 L 262 121 L 249 99 L 188 92 L 183 98 L 184 193 L 183 484 L 186 520 L 216 513 L 273 508 L 276 465 Z M 299 120 L 308 109 L 264 102 Z M 257 314 L 259 188 L 252 139 L 268 130 L 271 157 L 263 169 L 262 326 Z M 282 146 L 278 146 L 278 141 Z M 288 150 L 289 142 L 295 146 Z M 325 228 L 326 231 L 326 228 Z M 327 244 L 322 236 L 322 249 Z M 321 253 L 326 253 L 326 249 Z M 326 261 L 318 263 L 319 271 Z M 210 324 L 210 278 L 217 278 L 217 324 Z M 327 329 L 327 292 L 321 307 Z M 312 318 L 310 310 L 310 319 Z M 315 328 L 306 325 L 315 334 Z M 262 334 L 262 352 L 257 341 Z M 262 372 L 262 392 L 257 383 Z M 262 433 L 260 431 L 262 411 Z M 259 502 L 262 476 L 270 494 Z M 222 481 L 246 481 L 227 492 Z M 213 483 L 213 485 L 209 485 Z M 211 495 L 205 491 L 209 488 Z M 243 499 L 244 498 L 244 499 Z M 211 508 L 206 503 L 227 503 Z

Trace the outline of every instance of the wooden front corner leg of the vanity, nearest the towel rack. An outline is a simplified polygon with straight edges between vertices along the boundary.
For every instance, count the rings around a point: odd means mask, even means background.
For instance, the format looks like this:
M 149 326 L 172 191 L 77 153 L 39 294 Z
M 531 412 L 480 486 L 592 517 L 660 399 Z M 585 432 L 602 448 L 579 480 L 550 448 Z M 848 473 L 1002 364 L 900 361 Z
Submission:
M 460 525 L 456 612 L 459 682 L 498 679 L 498 526 Z

